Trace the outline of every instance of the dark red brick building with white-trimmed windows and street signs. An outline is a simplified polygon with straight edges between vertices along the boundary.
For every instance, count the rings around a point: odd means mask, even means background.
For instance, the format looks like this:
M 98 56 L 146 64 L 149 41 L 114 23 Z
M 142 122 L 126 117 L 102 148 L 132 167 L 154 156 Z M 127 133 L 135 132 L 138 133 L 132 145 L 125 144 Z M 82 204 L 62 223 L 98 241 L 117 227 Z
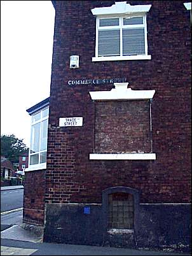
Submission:
M 27 110 L 24 222 L 44 225 L 44 241 L 188 248 L 191 4 L 52 3 L 50 99 Z

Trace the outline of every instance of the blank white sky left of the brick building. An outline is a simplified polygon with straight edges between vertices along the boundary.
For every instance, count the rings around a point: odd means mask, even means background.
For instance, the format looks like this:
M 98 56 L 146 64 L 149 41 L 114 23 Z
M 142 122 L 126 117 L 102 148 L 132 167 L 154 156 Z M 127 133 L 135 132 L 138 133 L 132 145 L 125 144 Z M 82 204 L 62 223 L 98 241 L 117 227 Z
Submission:
M 28 147 L 26 110 L 50 96 L 54 21 L 51 1 L 1 1 L 1 135 Z

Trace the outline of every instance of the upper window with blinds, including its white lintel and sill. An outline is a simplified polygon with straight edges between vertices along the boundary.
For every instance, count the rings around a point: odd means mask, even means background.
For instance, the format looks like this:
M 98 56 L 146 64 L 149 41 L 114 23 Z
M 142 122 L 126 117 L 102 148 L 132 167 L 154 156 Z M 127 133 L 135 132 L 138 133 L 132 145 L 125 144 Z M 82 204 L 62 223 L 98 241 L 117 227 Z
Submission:
M 92 13 L 97 19 L 92 60 L 151 59 L 151 55 L 147 55 L 146 22 L 146 11 L 150 7 L 120 2 L 107 8 L 94 8 Z

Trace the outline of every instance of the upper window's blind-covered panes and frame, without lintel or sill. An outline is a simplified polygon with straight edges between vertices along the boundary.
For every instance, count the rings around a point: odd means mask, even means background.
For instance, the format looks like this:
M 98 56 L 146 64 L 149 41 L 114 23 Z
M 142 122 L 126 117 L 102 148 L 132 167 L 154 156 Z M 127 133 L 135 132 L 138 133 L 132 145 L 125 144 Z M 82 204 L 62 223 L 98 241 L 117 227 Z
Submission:
M 97 20 L 96 57 L 147 55 L 146 15 Z

